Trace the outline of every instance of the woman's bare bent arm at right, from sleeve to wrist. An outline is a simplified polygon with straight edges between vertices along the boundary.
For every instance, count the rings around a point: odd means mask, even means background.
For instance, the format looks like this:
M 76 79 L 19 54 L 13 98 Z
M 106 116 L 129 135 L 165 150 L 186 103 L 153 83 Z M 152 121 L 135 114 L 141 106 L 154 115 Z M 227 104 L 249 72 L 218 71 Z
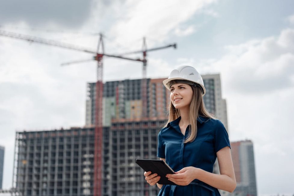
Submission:
M 219 162 L 220 174 L 210 173 L 204 170 L 196 170 L 195 179 L 198 179 L 215 188 L 233 192 L 236 188 L 236 178 L 230 148 L 227 146 L 216 152 Z

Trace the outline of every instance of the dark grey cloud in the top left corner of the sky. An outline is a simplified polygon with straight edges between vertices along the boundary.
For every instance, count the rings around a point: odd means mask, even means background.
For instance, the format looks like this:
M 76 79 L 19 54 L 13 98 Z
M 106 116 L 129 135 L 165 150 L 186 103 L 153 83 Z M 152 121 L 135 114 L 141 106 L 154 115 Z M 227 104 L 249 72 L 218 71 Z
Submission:
M 0 2 L 0 24 L 19 23 L 24 21 L 29 26 L 56 24 L 69 28 L 83 25 L 90 17 L 92 0 L 78 1 L 38 1 L 10 0 Z

